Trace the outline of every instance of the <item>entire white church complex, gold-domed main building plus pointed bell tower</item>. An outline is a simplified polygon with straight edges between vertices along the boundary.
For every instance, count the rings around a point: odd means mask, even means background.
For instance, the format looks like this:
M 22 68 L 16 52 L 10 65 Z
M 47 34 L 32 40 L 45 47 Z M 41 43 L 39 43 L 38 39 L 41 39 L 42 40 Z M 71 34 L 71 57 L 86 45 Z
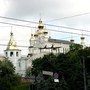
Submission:
M 23 57 L 21 50 L 17 48 L 14 35 L 10 33 L 10 40 L 6 50 L 4 50 L 5 57 L 7 57 L 15 66 L 16 73 L 25 76 L 26 69 L 32 67 L 32 61 L 36 58 L 43 57 L 48 53 L 66 53 L 69 51 L 70 41 L 57 40 L 48 36 L 42 20 L 39 20 L 37 30 L 30 37 L 29 53 Z

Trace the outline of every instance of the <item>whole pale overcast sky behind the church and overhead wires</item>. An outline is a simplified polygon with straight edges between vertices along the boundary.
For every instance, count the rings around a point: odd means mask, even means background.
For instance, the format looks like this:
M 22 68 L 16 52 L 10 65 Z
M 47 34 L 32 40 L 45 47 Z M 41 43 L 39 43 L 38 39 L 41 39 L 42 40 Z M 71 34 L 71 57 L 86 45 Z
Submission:
M 73 15 L 88 13 L 85 15 L 60 19 L 63 17 L 69 17 Z M 22 20 L 38 22 L 42 18 L 44 23 L 68 26 L 79 29 L 90 30 L 90 0 L 0 0 L 0 16 L 12 17 Z M 60 19 L 60 20 L 55 20 Z M 0 22 L 16 23 L 22 25 L 32 25 L 32 23 L 25 23 L 20 21 L 13 21 L 0 18 Z M 34 25 L 37 26 L 37 25 Z M 51 29 L 57 29 L 60 31 L 70 31 L 75 33 L 82 33 L 80 31 L 74 31 L 64 28 L 48 27 Z M 7 44 L 9 40 L 9 35 L 11 31 L 11 26 L 6 24 L 0 24 L 0 44 Z M 27 27 L 17 27 L 12 28 L 15 40 L 18 45 L 29 46 L 29 39 L 31 32 L 35 29 Z M 84 34 L 89 34 L 88 32 L 83 32 Z M 49 31 L 49 35 L 52 38 L 66 39 L 70 40 L 68 37 L 73 37 L 76 42 L 80 43 L 80 36 L 57 33 Z M 86 37 L 85 42 L 90 44 L 90 37 Z M 1 47 L 1 53 L 6 47 Z M 28 48 L 23 49 L 23 52 L 28 53 Z M 24 54 L 24 53 L 23 53 Z

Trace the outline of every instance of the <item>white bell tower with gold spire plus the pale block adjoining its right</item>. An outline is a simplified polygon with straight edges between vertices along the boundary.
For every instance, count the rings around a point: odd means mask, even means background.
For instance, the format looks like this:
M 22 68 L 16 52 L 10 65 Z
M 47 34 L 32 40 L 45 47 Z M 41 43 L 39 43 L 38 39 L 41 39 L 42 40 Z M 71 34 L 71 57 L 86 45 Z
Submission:
M 25 76 L 27 57 L 22 57 L 21 50 L 17 48 L 12 32 L 10 33 L 10 40 L 4 53 L 5 57 L 13 63 L 15 72 Z

